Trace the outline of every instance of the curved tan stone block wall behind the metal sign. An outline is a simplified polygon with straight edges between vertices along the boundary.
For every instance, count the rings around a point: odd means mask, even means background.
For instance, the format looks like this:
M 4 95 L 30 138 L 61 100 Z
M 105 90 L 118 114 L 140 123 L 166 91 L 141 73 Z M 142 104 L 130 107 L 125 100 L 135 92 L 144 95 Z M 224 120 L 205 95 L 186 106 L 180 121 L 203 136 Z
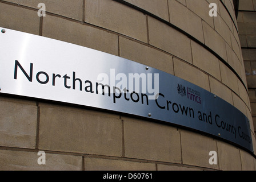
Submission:
M 46 16 L 39 17 L 41 2 Z M 209 16 L 209 3 L 216 3 L 217 16 Z M 231 0 L 1 0 L 0 26 L 111 53 L 201 86 L 250 119 L 255 147 Z M 256 168 L 255 153 L 173 126 L 10 96 L 1 96 L 0 105 L 0 169 Z M 37 163 L 38 151 L 46 152 L 46 165 Z M 209 164 L 210 151 L 217 151 L 218 164 Z

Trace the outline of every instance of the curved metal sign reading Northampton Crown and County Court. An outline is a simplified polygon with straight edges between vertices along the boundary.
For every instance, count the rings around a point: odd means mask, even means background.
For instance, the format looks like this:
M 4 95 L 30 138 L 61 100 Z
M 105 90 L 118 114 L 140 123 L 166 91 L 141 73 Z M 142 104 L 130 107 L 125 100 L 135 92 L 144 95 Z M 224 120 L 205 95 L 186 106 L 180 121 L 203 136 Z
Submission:
M 246 116 L 197 85 L 109 53 L 4 29 L 0 93 L 156 119 L 253 151 Z

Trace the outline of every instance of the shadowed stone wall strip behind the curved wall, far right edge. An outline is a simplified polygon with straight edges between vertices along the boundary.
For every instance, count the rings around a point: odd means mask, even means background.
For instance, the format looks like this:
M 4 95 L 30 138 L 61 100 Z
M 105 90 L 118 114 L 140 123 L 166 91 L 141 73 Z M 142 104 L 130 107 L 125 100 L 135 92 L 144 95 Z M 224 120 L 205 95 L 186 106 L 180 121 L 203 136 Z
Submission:
M 241 0 L 239 3 L 238 28 L 247 86 L 249 90 L 254 132 L 256 131 L 256 1 Z

